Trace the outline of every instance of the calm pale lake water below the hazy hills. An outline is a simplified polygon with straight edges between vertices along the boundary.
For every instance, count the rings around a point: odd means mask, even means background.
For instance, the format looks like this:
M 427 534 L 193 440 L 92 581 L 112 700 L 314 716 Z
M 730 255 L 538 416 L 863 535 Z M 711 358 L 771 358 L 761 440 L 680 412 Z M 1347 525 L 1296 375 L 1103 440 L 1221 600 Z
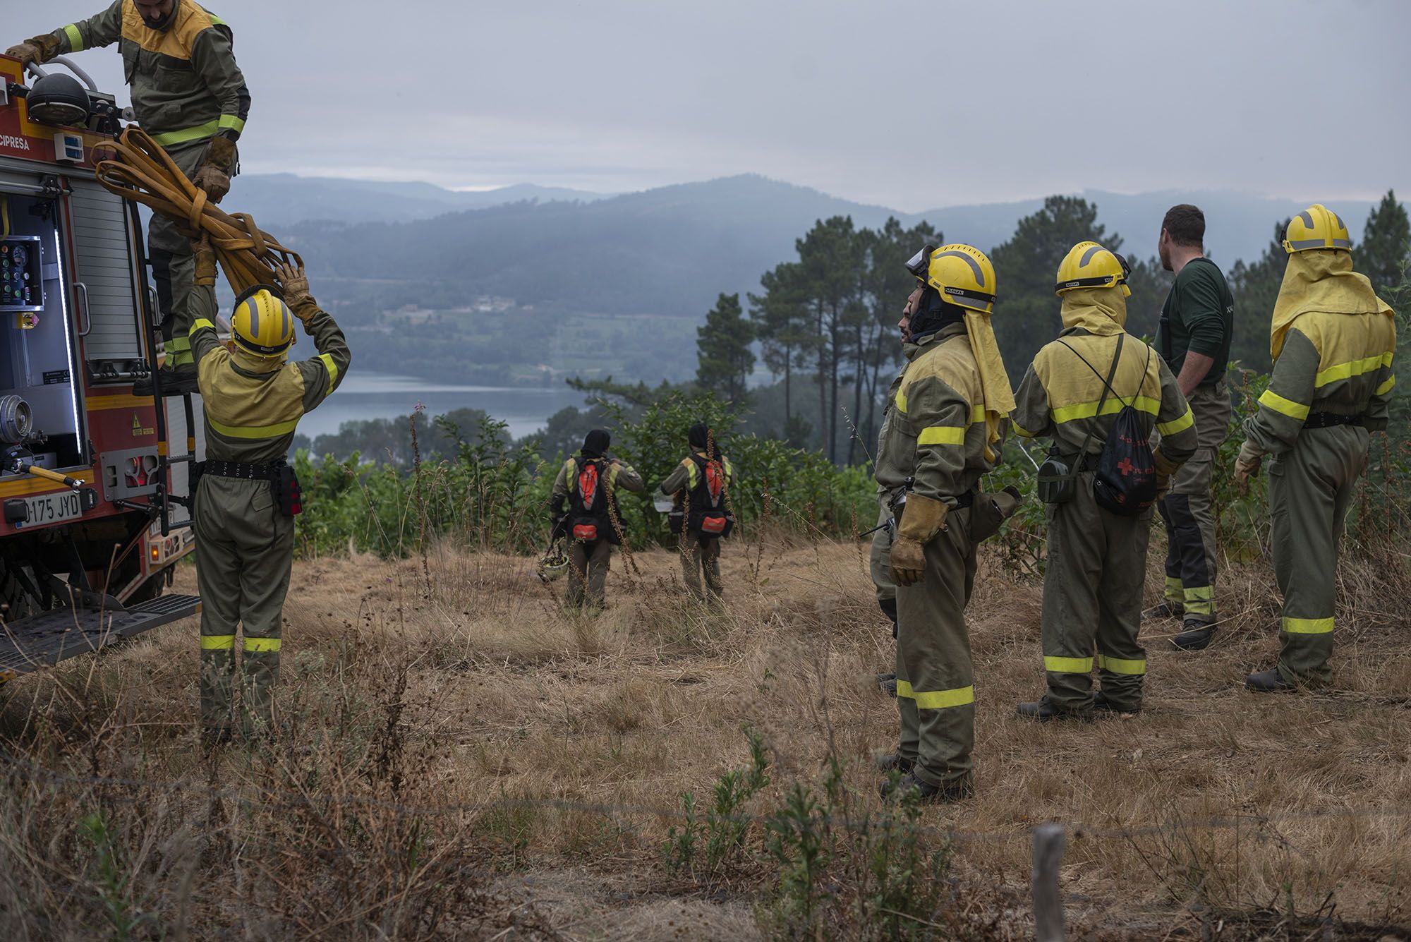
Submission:
M 426 406 L 428 416 L 439 416 L 452 409 L 484 409 L 491 417 L 508 422 L 509 434 L 518 439 L 542 429 L 559 409 L 581 406 L 583 393 L 567 386 L 456 386 L 416 377 L 354 371 L 323 405 L 299 420 L 299 432 L 312 440 L 337 432 L 344 422 L 411 415 L 418 402 Z

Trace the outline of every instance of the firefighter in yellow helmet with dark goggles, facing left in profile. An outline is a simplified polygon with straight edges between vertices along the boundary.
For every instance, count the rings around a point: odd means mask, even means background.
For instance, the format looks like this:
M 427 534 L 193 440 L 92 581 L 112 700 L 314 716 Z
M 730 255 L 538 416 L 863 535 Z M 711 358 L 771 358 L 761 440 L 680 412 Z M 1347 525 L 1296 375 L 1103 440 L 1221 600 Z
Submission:
M 974 794 L 975 687 L 965 605 L 975 581 L 979 479 L 999 461 L 1013 408 L 989 317 L 995 267 L 972 245 L 924 247 L 902 322 L 906 372 L 888 403 L 876 479 L 897 519 L 896 697 L 900 736 L 882 769 L 906 773 L 883 797 Z M 998 525 L 996 525 L 998 527 Z

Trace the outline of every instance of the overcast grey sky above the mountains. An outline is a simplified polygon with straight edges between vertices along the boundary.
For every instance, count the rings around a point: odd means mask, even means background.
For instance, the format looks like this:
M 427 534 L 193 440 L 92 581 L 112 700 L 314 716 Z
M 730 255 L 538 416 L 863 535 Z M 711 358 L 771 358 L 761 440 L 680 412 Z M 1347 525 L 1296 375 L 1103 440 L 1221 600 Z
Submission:
M 0 1 L 6 45 L 102 7 Z M 1411 195 L 1411 0 L 210 6 L 254 96 L 248 172 L 612 192 L 758 172 L 907 212 Z M 114 49 L 79 61 L 121 85 Z

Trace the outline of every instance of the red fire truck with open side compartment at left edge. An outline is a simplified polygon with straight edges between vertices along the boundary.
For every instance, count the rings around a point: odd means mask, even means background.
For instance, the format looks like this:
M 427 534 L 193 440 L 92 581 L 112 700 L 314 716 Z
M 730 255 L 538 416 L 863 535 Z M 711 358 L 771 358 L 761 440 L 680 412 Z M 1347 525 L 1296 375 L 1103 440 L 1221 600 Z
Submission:
M 199 408 L 133 395 L 161 314 L 138 213 L 93 178 L 123 114 L 48 69 L 0 55 L 0 683 L 200 608 L 162 595 Z

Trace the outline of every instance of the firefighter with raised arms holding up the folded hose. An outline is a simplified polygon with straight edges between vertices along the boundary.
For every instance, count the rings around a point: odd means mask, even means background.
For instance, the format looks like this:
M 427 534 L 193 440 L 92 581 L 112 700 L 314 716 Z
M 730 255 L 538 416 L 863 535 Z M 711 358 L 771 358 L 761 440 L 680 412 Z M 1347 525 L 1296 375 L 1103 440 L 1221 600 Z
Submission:
M 299 485 L 285 455 L 299 419 L 347 375 L 351 354 L 343 331 L 309 295 L 302 268 L 284 267 L 282 290 L 244 292 L 224 347 L 216 310 L 216 259 L 207 243 L 195 251 L 196 319 L 190 344 L 206 413 L 206 461 L 198 465 L 192 516 L 200 588 L 200 718 L 207 742 L 224 742 L 234 723 L 237 628 L 241 642 L 241 732 L 272 730 L 272 691 L 279 677 L 279 628 L 293 563 Z M 295 320 L 317 355 L 289 362 Z

